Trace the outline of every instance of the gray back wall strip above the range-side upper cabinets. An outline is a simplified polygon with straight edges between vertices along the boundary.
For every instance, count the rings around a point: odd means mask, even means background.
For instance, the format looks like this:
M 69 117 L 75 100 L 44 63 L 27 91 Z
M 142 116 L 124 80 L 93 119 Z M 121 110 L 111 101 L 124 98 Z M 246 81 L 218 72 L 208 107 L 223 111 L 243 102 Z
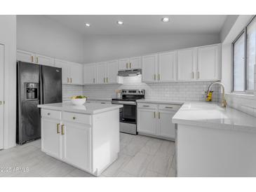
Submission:
M 213 43 L 220 43 L 219 34 L 88 36 L 84 39 L 84 62 L 100 62 Z

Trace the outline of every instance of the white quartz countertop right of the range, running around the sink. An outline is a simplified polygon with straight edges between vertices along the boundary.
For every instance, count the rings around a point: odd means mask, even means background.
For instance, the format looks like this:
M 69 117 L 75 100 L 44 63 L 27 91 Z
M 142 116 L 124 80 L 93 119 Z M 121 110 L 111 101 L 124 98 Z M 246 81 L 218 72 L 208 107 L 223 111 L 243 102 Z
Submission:
M 256 132 L 256 118 L 230 107 L 223 108 L 214 102 L 183 102 L 166 100 L 137 100 L 155 104 L 180 104 L 173 123 L 206 128 Z

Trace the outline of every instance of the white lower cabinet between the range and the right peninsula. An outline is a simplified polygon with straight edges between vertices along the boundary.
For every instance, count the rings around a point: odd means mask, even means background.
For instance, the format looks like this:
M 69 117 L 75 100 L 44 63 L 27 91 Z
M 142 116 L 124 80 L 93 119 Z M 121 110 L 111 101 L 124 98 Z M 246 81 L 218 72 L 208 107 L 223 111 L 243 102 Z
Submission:
M 137 131 L 140 134 L 151 135 L 165 139 L 175 139 L 175 124 L 172 118 L 180 108 L 177 104 L 137 105 Z

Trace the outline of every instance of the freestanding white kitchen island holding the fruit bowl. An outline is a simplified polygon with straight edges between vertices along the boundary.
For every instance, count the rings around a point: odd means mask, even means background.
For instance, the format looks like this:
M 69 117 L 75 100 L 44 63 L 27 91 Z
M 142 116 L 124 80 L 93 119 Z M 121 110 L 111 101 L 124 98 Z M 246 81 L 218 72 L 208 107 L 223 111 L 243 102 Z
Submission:
M 122 105 L 65 102 L 38 107 L 41 151 L 95 176 L 118 157 Z

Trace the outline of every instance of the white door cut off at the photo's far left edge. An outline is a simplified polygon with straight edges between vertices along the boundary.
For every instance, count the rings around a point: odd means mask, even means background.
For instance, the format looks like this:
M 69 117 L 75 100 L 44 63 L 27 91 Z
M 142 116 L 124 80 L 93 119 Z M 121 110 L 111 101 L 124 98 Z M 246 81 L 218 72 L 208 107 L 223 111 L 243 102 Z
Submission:
M 0 44 L 0 149 L 4 148 L 4 46 Z

